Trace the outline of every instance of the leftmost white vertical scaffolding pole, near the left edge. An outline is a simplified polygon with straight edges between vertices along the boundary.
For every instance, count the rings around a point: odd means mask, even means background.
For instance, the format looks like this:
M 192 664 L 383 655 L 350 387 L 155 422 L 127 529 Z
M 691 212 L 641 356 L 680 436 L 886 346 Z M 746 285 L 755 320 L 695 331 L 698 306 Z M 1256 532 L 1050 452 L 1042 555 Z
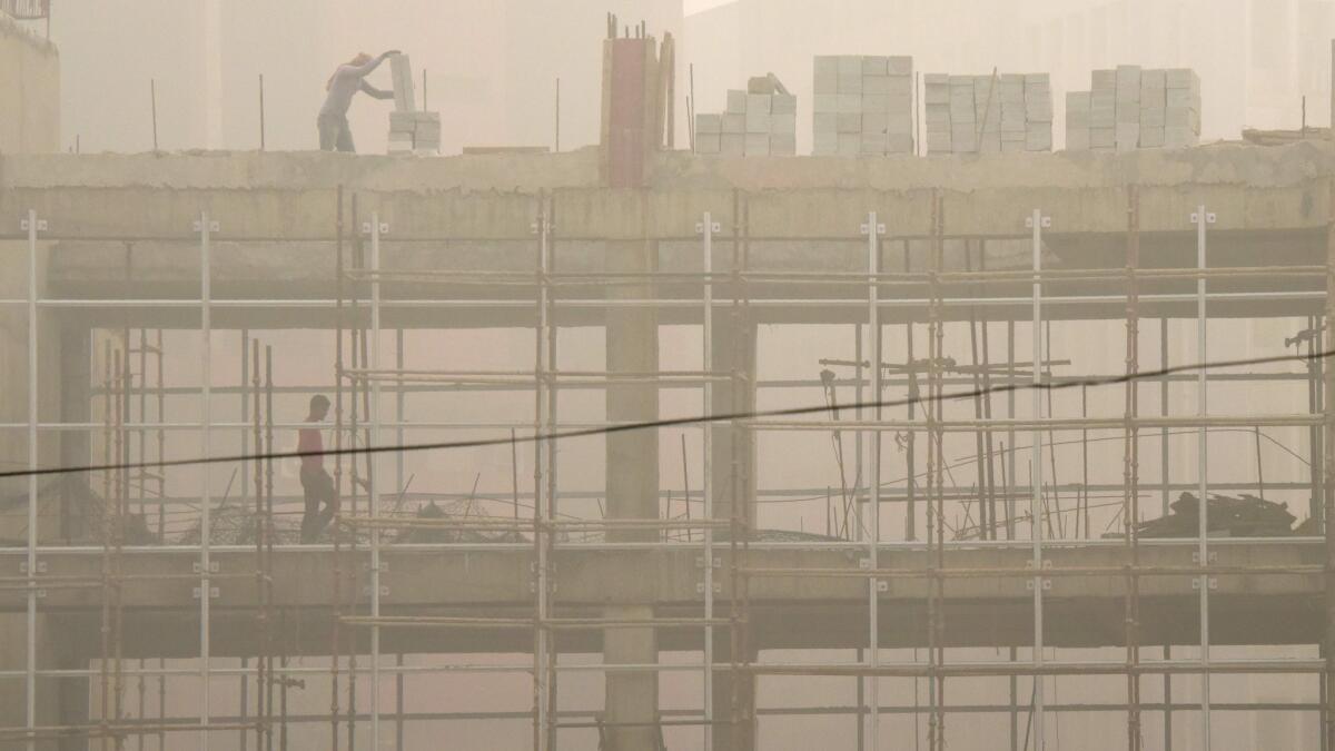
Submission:
M 28 210 L 28 632 L 27 707 L 28 732 L 37 727 L 37 212 Z M 29 735 L 28 751 L 36 748 Z

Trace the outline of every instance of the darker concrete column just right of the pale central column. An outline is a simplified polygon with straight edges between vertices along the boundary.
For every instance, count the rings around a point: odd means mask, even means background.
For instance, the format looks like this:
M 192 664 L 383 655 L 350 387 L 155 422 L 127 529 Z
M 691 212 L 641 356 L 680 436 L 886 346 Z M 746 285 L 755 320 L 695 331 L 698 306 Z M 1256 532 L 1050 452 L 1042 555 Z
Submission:
M 724 243 L 720 243 L 724 246 Z M 722 249 L 721 249 L 722 250 Z M 729 263 L 716 259 L 714 269 L 728 269 Z M 740 373 L 744 378 L 733 384 L 718 384 L 714 386 L 714 400 L 710 406 L 712 414 L 746 412 L 756 406 L 756 393 L 752 388 L 756 376 L 756 325 L 745 318 L 737 318 L 726 309 L 714 313 L 714 337 L 710 351 L 710 369 L 716 374 Z M 712 474 L 714 482 L 714 516 L 730 518 L 733 509 L 742 504 L 746 513 L 744 518 L 756 518 L 756 441 L 753 434 L 745 429 L 734 429 L 728 424 L 716 424 L 713 430 Z M 724 536 L 720 536 L 724 537 Z M 726 541 L 726 540 L 725 540 Z M 726 551 L 726 544 L 720 544 L 720 549 Z M 721 569 L 717 576 L 726 580 L 728 571 Z M 716 613 L 726 613 L 726 600 L 716 603 Z M 753 640 L 748 639 L 748 643 Z M 750 659 L 756 659 L 754 649 Z M 729 661 L 732 659 L 730 635 L 726 628 L 721 628 L 714 636 L 714 659 Z M 737 712 L 741 719 L 738 724 L 730 724 L 733 719 L 733 692 L 734 683 L 737 692 Z M 754 676 L 737 676 L 730 672 L 714 673 L 714 748 L 729 751 L 750 751 L 756 748 L 756 679 Z

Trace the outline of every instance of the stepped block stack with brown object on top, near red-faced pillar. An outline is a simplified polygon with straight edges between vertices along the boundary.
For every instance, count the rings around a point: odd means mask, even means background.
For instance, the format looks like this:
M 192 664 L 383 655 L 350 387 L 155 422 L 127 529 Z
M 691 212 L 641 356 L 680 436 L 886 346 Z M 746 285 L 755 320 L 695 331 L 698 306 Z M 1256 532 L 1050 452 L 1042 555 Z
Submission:
M 794 156 L 797 98 L 773 73 L 730 90 L 722 112 L 696 115 L 696 152 L 729 156 Z

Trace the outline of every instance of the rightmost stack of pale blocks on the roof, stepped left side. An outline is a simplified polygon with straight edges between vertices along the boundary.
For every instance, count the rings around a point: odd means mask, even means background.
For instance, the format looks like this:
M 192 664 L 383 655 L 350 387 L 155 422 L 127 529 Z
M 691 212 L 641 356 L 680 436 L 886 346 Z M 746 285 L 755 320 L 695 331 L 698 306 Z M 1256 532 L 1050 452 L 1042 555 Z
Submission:
M 1200 143 L 1200 76 L 1188 68 L 1095 71 L 1067 94 L 1067 148 L 1132 151 Z

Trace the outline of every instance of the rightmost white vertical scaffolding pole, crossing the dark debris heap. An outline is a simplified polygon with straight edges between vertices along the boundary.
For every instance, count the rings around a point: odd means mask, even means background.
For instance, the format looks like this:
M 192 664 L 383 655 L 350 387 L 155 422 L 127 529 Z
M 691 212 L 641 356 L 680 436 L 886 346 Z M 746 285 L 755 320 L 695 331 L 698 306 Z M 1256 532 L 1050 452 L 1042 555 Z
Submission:
M 1206 206 L 1202 204 L 1196 208 L 1196 214 L 1192 215 L 1192 222 L 1196 224 L 1196 267 L 1202 271 L 1206 270 L 1206 224 L 1212 223 L 1215 216 L 1206 212 Z M 1206 362 L 1208 362 L 1210 349 L 1206 346 L 1206 277 L 1202 275 L 1196 279 L 1196 362 L 1200 367 L 1196 370 L 1196 414 L 1204 418 L 1210 414 L 1210 406 L 1207 401 L 1207 371 Z M 1206 425 L 1202 424 L 1196 433 L 1196 482 L 1197 482 L 1197 510 L 1196 522 L 1197 539 L 1196 556 L 1200 565 L 1210 564 L 1210 496 L 1208 496 L 1208 472 L 1210 472 L 1210 457 L 1208 457 L 1208 432 Z M 1200 665 L 1203 668 L 1210 668 L 1210 583 L 1208 575 L 1202 575 L 1197 579 L 1197 587 L 1200 588 Z M 1206 669 L 1200 673 L 1200 748 L 1210 751 L 1210 671 Z

